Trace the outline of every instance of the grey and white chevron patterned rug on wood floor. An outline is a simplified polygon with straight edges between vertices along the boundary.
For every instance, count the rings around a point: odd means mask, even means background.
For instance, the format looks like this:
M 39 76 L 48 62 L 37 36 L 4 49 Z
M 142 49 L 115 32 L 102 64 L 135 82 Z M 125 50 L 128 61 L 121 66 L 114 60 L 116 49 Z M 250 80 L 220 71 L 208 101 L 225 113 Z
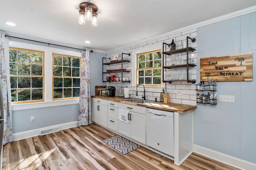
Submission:
M 128 139 L 125 139 L 119 135 L 104 139 L 103 142 L 121 154 L 127 154 L 141 147 L 140 145 L 137 145 L 136 143 L 133 143 L 132 141 L 129 141 Z

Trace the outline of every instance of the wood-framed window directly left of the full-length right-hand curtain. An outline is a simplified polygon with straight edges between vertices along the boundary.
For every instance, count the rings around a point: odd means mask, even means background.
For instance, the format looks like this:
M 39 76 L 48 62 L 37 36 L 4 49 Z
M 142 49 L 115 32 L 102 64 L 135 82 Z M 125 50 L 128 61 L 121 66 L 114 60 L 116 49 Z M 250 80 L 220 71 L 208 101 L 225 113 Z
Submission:
M 53 100 L 79 98 L 80 57 L 52 55 Z

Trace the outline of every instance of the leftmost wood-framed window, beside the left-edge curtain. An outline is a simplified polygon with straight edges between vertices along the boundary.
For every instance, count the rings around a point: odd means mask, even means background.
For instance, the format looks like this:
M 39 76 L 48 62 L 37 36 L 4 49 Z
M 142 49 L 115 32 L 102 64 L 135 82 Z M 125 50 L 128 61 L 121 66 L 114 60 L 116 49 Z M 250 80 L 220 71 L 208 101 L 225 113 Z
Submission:
M 44 52 L 9 49 L 12 102 L 44 101 Z

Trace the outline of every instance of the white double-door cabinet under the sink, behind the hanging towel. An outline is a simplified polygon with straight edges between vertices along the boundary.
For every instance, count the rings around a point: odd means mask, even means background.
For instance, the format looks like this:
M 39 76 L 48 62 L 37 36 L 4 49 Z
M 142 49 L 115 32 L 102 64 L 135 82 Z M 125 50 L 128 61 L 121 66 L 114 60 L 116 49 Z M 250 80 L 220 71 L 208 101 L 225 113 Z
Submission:
M 146 120 L 145 120 L 145 107 L 133 106 L 128 104 L 120 104 L 120 109 L 126 110 L 140 110 L 141 113 L 130 111 L 128 118 L 129 123 L 118 120 L 118 133 L 130 137 L 135 141 L 146 144 Z

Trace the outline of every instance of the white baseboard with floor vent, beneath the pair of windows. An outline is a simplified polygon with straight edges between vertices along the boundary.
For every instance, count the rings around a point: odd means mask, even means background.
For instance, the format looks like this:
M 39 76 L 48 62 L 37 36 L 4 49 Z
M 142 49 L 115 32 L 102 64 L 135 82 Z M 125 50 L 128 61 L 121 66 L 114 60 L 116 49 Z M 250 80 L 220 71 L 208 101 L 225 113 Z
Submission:
M 13 134 L 14 141 L 18 141 L 18 140 L 21 140 L 21 139 L 26 139 L 26 138 L 29 138 L 29 137 L 38 136 L 38 135 L 40 135 L 41 130 L 50 129 L 50 128 L 56 127 L 56 126 L 59 126 L 60 130 L 68 129 L 68 128 L 72 128 L 72 127 L 77 127 L 77 121 L 72 121 L 72 122 L 63 123 L 63 124 L 54 125 L 54 126 L 49 126 L 49 127 L 43 127 L 43 128 L 40 128 L 40 129 L 34 129 L 34 130 L 30 130 L 30 131 L 14 133 Z

